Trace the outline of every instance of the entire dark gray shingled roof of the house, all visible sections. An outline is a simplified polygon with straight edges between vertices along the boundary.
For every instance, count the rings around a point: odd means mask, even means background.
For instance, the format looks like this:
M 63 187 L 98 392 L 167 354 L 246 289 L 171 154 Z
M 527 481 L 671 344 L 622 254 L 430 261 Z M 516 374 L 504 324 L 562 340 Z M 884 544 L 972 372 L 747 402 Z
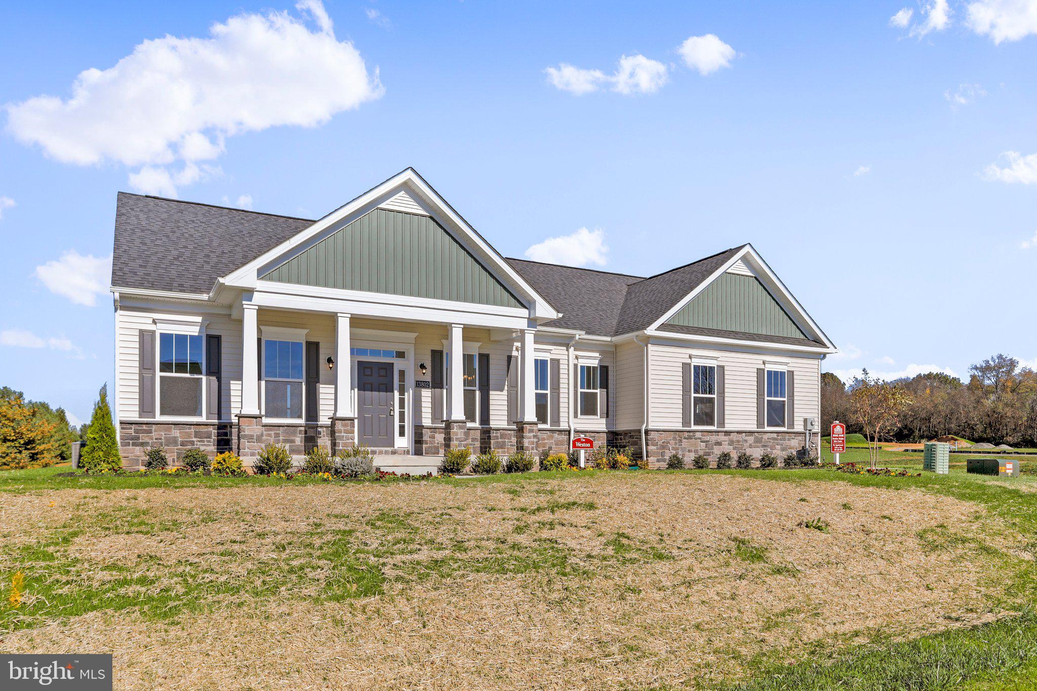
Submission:
M 314 221 L 175 199 L 118 194 L 112 286 L 207 293 L 216 280 L 303 231 Z M 544 325 L 618 336 L 651 325 L 741 247 L 649 278 L 525 259 L 507 262 L 562 316 Z M 667 330 L 785 342 L 740 332 Z M 705 332 L 710 332 L 706 334 Z M 812 344 L 805 339 L 789 342 Z

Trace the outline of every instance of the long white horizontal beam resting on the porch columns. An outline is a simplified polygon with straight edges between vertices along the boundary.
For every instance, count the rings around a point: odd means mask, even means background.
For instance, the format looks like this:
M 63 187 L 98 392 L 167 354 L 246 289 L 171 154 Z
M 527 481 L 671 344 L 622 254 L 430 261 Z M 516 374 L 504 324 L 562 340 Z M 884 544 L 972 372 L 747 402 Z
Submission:
M 248 305 L 274 310 L 299 312 L 327 312 L 355 316 L 392 319 L 396 321 L 421 321 L 432 324 L 463 324 L 484 328 L 524 328 L 527 319 L 476 312 L 460 312 L 446 308 L 408 307 L 398 304 L 362 303 L 331 297 L 308 297 L 304 295 L 280 294 L 256 291 L 247 300 Z

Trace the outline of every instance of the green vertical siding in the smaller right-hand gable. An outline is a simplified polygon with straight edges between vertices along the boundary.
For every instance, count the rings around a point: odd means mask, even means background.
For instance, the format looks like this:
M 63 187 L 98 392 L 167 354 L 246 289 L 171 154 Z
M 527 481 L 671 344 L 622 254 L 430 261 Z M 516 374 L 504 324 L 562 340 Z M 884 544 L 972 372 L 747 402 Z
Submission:
M 666 323 L 809 338 L 756 277 L 737 273 L 722 273 Z

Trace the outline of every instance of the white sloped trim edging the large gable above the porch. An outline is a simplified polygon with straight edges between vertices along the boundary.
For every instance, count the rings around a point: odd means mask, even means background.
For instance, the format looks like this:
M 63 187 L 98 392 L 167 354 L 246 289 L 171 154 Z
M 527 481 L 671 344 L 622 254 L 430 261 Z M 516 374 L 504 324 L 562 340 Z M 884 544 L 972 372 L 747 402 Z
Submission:
M 401 190 L 399 188 L 402 188 Z M 479 258 L 483 266 L 501 283 L 515 290 L 520 299 L 525 298 L 529 305 L 529 316 L 536 320 L 557 319 L 560 315 L 542 296 L 530 286 L 504 258 L 474 228 L 451 208 L 440 195 L 432 190 L 413 168 L 392 176 L 382 184 L 365 192 L 347 204 L 335 209 L 328 215 L 316 221 L 309 228 L 281 242 L 259 255 L 241 268 L 235 269 L 224 279 L 217 282 L 235 288 L 254 289 L 261 272 L 273 268 L 275 262 L 285 258 L 287 254 L 299 254 L 319 239 L 331 227 L 351 215 L 360 218 L 373 208 L 391 202 L 405 192 L 411 202 L 426 209 L 428 215 L 442 222 L 444 228 L 461 241 L 470 252 Z

